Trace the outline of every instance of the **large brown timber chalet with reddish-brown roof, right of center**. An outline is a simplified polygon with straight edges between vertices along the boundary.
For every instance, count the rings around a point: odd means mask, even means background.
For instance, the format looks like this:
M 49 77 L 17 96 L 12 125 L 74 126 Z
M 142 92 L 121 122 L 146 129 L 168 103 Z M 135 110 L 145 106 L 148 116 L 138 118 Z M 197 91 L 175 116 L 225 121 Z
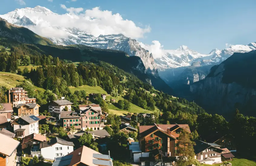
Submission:
M 139 126 L 139 145 L 141 153 L 143 153 L 143 156 L 146 156 L 140 157 L 140 161 L 153 162 L 160 159 L 162 156 L 165 158 L 177 156 L 178 137 L 181 130 L 191 132 L 187 124 Z

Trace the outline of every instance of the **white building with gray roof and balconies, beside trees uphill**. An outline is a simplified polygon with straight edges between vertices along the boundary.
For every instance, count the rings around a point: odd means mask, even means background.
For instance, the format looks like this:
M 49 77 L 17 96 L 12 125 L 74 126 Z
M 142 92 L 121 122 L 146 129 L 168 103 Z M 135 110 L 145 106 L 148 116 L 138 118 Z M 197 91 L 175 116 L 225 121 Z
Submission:
M 68 100 L 55 100 L 52 101 L 52 103 L 49 105 L 49 112 L 51 114 L 53 113 L 57 113 L 60 114 L 61 111 L 63 111 L 63 109 L 65 109 L 65 107 L 68 107 L 68 111 L 71 111 L 71 103 Z

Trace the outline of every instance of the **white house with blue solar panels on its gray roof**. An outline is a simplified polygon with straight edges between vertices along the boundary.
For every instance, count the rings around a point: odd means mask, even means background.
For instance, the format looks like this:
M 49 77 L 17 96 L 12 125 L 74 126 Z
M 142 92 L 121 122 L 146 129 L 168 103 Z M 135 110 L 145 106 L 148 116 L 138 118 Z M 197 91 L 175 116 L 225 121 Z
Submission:
M 23 138 L 32 133 L 39 134 L 39 120 L 35 115 L 23 116 L 15 120 L 13 122 L 15 137 Z

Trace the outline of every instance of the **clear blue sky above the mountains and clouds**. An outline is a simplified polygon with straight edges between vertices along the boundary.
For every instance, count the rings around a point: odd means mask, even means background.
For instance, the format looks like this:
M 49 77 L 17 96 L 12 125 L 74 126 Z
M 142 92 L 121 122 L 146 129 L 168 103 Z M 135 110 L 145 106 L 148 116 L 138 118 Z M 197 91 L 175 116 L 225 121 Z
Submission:
M 256 41 L 256 1 L 247 0 L 0 0 L 0 14 L 15 8 L 44 6 L 55 13 L 64 14 L 67 8 L 101 10 L 121 14 L 123 19 L 137 26 L 150 26 L 138 41 L 151 44 L 158 40 L 164 49 L 177 49 L 186 45 L 200 53 L 224 49 L 225 44 L 248 44 Z

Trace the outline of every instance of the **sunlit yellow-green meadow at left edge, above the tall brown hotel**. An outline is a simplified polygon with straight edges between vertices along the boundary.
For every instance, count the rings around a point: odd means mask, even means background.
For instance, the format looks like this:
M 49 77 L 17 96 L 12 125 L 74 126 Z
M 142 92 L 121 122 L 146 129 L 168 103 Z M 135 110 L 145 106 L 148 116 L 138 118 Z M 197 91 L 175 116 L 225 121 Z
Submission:
M 19 81 L 24 80 L 25 78 L 22 75 L 17 75 L 8 72 L 0 72 L 0 85 L 5 86 L 6 88 L 15 87 Z M 34 86 L 35 89 L 45 91 L 43 88 Z

